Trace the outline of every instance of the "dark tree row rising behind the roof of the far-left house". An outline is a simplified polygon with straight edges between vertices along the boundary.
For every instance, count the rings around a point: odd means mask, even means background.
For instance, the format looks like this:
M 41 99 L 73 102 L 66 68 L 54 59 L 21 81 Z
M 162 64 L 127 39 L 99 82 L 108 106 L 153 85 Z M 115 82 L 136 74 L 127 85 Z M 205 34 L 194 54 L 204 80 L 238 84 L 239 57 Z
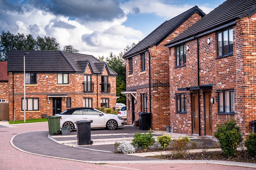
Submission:
M 0 34 L 0 61 L 7 61 L 8 50 L 42 50 L 42 51 L 59 51 L 59 43 L 53 37 L 40 37 L 36 39 L 31 34 L 23 33 L 12 34 L 7 31 Z M 72 45 L 65 45 L 61 51 L 79 53 Z

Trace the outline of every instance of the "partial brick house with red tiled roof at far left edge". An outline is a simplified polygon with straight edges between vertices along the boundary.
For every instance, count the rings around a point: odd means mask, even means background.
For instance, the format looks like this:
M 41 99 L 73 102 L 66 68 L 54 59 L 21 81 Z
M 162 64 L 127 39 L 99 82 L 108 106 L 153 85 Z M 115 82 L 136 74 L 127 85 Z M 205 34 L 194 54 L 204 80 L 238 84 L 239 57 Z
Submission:
M 0 62 L 0 102 L 9 101 L 7 62 Z

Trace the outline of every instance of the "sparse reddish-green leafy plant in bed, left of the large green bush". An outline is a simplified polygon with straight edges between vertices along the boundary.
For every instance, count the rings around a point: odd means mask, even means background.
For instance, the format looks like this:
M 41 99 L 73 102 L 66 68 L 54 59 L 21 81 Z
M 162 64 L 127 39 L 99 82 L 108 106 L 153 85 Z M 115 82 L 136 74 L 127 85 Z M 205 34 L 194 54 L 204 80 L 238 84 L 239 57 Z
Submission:
M 173 157 L 174 154 L 177 154 L 178 157 L 186 158 L 190 150 L 190 148 L 187 147 L 189 142 L 191 142 L 189 137 L 185 136 L 184 138 L 180 138 L 179 136 L 178 139 L 173 138 L 173 141 L 174 143 L 172 143 L 171 146 L 173 147 L 174 150 L 172 151 L 171 157 Z

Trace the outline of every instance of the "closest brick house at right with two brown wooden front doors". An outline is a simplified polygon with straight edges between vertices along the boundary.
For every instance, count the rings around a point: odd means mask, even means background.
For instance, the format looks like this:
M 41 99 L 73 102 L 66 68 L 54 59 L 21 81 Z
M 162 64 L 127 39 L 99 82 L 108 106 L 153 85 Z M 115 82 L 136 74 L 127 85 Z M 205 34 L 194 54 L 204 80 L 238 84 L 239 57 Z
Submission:
M 248 135 L 256 120 L 255 30 L 256 1 L 227 0 L 166 44 L 174 132 L 212 136 L 217 123 L 236 119 Z

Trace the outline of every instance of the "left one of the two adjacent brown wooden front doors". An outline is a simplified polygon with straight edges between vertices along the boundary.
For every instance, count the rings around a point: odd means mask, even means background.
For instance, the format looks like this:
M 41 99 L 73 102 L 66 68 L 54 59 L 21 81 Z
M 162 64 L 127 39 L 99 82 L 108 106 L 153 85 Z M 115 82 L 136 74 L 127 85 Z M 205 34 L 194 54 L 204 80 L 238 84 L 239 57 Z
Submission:
M 192 133 L 199 134 L 198 94 L 192 94 Z

